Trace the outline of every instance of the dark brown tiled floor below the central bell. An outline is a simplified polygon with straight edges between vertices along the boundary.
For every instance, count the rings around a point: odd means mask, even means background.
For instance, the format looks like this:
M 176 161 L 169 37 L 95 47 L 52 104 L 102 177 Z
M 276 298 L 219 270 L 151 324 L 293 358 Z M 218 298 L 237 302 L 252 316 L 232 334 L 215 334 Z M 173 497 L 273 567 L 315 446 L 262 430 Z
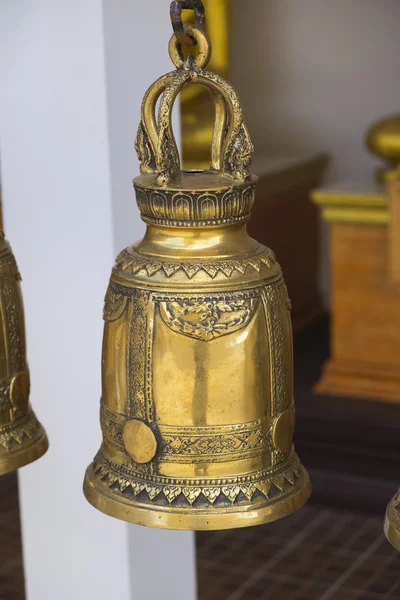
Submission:
M 382 524 L 308 506 L 270 525 L 199 533 L 199 600 L 400 600 L 400 554 Z

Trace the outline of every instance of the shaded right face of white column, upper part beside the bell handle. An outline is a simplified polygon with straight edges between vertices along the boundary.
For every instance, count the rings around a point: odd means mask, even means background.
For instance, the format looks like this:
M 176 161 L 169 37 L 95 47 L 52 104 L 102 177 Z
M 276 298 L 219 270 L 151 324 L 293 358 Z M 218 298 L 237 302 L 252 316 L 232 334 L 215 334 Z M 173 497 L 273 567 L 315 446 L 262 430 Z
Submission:
M 165 0 L 132 2 L 103 0 L 105 64 L 109 119 L 115 252 L 142 236 L 144 224 L 133 195 L 132 178 L 139 173 L 133 148 L 142 97 L 158 77 L 173 66 L 168 55 L 172 27 Z M 174 110 L 179 142 L 179 110 Z

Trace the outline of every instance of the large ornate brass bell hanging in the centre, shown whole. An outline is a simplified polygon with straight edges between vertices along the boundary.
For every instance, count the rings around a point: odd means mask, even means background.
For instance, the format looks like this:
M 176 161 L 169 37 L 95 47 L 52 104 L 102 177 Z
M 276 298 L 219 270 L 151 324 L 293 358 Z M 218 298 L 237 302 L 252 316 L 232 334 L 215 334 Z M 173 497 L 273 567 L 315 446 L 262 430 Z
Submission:
M 118 256 L 106 294 L 103 443 L 84 481 L 108 515 L 193 530 L 273 521 L 310 495 L 292 445 L 290 301 L 274 253 L 246 231 L 253 146 L 235 90 L 204 70 L 200 17 L 185 26 L 196 58 L 174 35 L 177 70 L 144 97 L 134 187 L 147 230 Z M 209 171 L 181 171 L 171 130 L 189 83 L 215 103 Z

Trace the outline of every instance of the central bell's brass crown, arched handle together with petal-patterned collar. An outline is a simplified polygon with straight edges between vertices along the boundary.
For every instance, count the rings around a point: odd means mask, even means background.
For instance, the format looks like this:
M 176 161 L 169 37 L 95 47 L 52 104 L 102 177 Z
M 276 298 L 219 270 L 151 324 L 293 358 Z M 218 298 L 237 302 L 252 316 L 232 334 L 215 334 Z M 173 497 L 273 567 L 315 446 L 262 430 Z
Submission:
M 143 99 L 135 142 L 142 173 L 134 180 L 137 203 L 147 223 L 198 227 L 244 222 L 250 218 L 257 178 L 249 170 L 254 148 L 243 108 L 227 81 L 204 70 L 211 55 L 207 34 L 191 25 L 185 30 L 197 42 L 196 58 L 185 58 L 173 36 L 169 52 L 177 70 L 158 79 Z M 177 96 L 189 83 L 204 85 L 214 101 L 209 171 L 184 172 L 180 168 L 171 115 Z

